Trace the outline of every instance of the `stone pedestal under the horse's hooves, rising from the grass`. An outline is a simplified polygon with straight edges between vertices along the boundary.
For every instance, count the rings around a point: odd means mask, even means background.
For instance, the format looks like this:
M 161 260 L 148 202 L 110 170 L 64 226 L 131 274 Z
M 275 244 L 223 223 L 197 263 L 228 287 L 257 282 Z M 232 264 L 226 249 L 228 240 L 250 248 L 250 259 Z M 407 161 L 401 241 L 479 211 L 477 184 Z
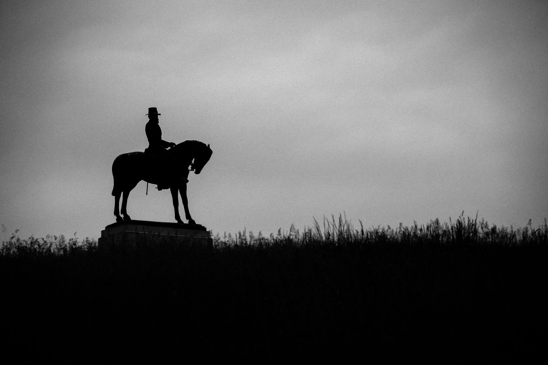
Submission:
M 132 220 L 107 225 L 98 240 L 101 251 L 180 246 L 212 249 L 213 239 L 199 224 Z

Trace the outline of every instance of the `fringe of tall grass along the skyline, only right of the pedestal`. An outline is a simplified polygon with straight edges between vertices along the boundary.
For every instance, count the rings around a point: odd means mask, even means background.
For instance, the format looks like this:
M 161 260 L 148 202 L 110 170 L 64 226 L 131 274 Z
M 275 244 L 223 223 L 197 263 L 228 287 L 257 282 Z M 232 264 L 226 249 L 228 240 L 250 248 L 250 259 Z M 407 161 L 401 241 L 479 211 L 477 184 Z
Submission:
M 359 228 L 346 219 L 346 215 L 339 215 L 338 219 L 323 217 L 322 225 L 314 218 L 312 227 L 305 228 L 302 232 L 295 229 L 292 224 L 288 231 L 278 230 L 276 235 L 265 237 L 259 232 L 255 236 L 252 231 L 238 231 L 237 234 L 221 237 L 216 234 L 213 237 L 214 247 L 232 246 L 269 246 L 277 244 L 293 245 L 369 245 L 369 244 L 437 244 L 437 245 L 534 245 L 548 242 L 548 222 L 546 218 L 539 228 L 534 229 L 531 220 L 526 227 L 513 229 L 513 227 L 497 227 L 489 225 L 482 219 L 464 217 L 464 211 L 456 219 L 449 223 L 441 223 L 439 219 L 429 223 L 418 225 L 416 222 L 411 227 L 404 227 L 402 223 L 397 228 L 373 227 L 366 229 L 363 222 L 359 221 Z

